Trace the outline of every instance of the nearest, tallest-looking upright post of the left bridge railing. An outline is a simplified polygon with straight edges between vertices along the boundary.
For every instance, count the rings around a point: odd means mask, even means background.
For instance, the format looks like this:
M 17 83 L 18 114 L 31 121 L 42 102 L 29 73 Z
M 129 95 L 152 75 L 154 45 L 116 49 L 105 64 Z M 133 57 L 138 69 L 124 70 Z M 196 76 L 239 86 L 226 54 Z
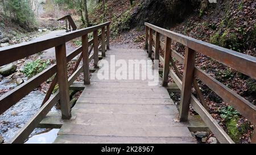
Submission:
M 55 47 L 56 64 L 57 64 L 57 81 L 60 91 L 60 106 L 63 119 L 71 118 L 71 106 L 69 104 L 68 92 L 68 69 L 66 58 L 65 44 Z

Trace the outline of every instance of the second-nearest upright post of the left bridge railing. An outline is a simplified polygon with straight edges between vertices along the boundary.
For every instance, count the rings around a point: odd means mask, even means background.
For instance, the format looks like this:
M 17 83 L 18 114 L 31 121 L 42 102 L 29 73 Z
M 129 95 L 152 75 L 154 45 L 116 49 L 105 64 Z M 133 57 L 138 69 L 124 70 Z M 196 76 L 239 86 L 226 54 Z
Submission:
M 84 84 L 90 84 L 90 69 L 89 69 L 89 55 L 88 55 L 88 34 L 82 36 L 82 64 L 84 68 Z

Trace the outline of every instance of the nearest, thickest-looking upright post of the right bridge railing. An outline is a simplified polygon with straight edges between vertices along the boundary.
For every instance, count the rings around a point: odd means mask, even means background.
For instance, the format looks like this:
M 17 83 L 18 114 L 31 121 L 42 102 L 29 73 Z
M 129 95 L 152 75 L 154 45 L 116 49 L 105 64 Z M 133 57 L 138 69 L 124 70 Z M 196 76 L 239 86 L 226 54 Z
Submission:
M 187 122 L 188 120 L 189 103 L 191 99 L 192 82 L 194 78 L 193 72 L 195 68 L 195 58 L 196 52 L 193 49 L 186 47 L 180 101 L 181 122 Z

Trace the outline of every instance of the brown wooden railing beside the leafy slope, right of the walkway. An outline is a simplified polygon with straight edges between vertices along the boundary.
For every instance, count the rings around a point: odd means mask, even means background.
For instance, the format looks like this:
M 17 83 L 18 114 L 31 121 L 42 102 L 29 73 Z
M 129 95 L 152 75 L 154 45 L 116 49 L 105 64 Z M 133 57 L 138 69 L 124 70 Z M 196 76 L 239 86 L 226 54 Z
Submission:
M 168 77 L 171 76 L 181 90 L 181 102 L 179 108 L 181 122 L 186 122 L 188 120 L 189 104 L 191 103 L 192 107 L 201 116 L 220 143 L 234 143 L 224 129 L 222 129 L 217 121 L 209 114 L 196 80 L 196 78 L 198 78 L 217 95 L 240 112 L 241 115 L 245 116 L 245 118 L 252 124 L 256 125 L 256 106 L 195 66 L 196 52 L 199 52 L 237 70 L 238 72 L 256 79 L 255 57 L 205 43 L 204 41 L 196 40 L 191 37 L 154 26 L 150 23 L 145 23 L 145 25 L 146 49 L 148 49 L 148 56 L 151 57 L 151 53 L 153 51 L 155 53 L 155 60 L 160 60 L 164 64 L 163 86 L 167 86 Z M 160 37 L 164 37 L 164 42 Z M 185 45 L 185 57 L 171 49 L 172 40 Z M 160 48 L 164 50 L 164 58 L 159 56 Z M 184 65 L 183 77 L 181 77 L 172 57 Z M 175 72 L 170 69 L 170 62 L 174 67 Z M 192 86 L 195 88 L 196 95 L 199 97 L 201 103 L 194 95 L 192 95 Z M 256 143 L 255 129 L 252 143 Z

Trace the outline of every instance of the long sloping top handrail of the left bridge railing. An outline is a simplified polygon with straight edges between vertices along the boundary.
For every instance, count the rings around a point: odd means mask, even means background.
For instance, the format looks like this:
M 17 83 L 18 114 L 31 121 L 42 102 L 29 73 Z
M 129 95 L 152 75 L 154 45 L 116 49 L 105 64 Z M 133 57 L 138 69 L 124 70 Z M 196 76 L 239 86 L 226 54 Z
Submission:
M 28 41 L 26 43 L 10 45 L 0 48 L 0 66 L 10 64 L 16 60 L 20 60 L 24 57 L 34 55 L 35 53 L 45 51 L 46 49 L 57 47 L 64 44 L 76 37 L 85 35 L 98 30 L 101 27 L 109 25 L 110 22 L 102 23 L 97 26 L 83 28 L 72 32 L 65 33 L 64 35 L 58 35 L 47 39 L 41 39 L 36 41 Z M 29 50 L 28 50 L 29 49 Z M 10 57 L 11 55 L 11 57 Z

